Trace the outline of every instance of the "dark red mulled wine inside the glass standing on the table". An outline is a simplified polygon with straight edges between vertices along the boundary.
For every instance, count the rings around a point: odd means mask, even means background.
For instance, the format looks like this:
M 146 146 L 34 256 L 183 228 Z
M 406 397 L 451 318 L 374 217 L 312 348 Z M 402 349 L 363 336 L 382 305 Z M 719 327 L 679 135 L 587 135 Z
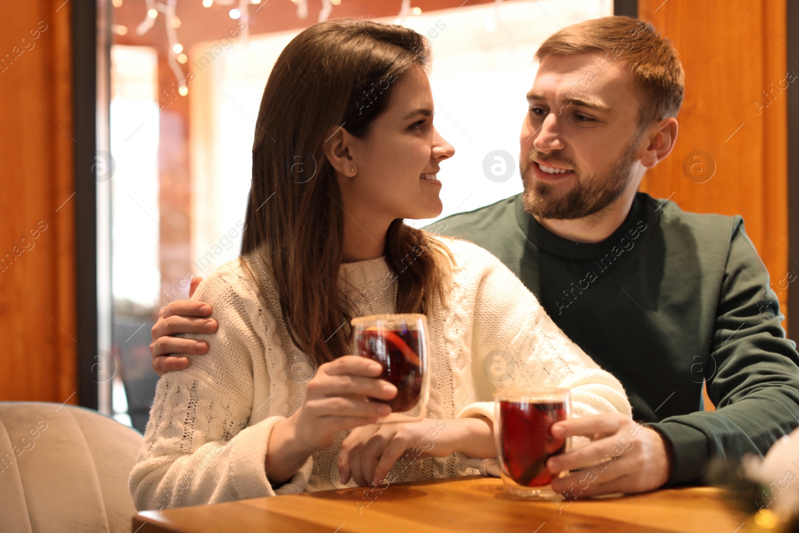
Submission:
M 552 424 L 566 420 L 563 402 L 501 400 L 499 403 L 503 463 L 508 475 L 524 487 L 552 482 L 547 459 L 566 451 L 566 440 L 555 439 Z

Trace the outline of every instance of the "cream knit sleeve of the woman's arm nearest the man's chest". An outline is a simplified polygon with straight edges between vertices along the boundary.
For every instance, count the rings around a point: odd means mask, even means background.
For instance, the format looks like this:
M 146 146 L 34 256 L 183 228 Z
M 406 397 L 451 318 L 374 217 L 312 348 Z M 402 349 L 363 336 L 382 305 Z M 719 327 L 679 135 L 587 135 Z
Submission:
M 566 337 L 513 272 L 471 243 L 455 241 L 452 248 L 465 260 L 463 300 L 473 302 L 473 396 L 456 416 L 494 420 L 493 393 L 506 387 L 568 388 L 574 417 L 631 414 L 622 384 Z M 573 447 L 586 443 L 575 439 Z

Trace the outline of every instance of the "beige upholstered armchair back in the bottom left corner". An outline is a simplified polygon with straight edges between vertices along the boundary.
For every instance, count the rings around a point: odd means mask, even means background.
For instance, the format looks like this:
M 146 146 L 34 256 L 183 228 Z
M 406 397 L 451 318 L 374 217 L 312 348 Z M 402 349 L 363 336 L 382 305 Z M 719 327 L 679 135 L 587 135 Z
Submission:
M 0 531 L 130 531 L 141 441 L 90 409 L 0 402 Z

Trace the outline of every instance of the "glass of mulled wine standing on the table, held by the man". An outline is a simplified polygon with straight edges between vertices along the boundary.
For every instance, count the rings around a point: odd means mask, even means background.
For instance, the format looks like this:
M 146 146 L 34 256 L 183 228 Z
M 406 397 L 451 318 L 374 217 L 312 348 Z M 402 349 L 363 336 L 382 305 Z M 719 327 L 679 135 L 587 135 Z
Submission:
M 503 388 L 494 393 L 494 438 L 499 475 L 513 495 L 558 499 L 547 459 L 570 451 L 570 438 L 556 439 L 552 424 L 571 416 L 566 388 Z M 561 472 L 560 475 L 566 475 Z

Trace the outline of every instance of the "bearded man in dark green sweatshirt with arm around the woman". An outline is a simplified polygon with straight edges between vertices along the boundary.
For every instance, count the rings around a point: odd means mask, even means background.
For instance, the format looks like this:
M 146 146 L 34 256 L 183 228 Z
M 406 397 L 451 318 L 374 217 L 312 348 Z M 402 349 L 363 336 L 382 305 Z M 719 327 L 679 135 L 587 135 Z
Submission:
M 549 459 L 578 496 L 698 482 L 714 457 L 764 453 L 799 424 L 799 354 L 741 217 L 684 213 L 637 193 L 674 147 L 683 71 L 652 26 L 608 17 L 569 26 L 536 53 L 520 144 L 524 193 L 427 229 L 494 253 L 547 312 L 625 385 L 634 420 L 568 420 L 591 444 Z M 183 368 L 207 332 L 201 302 L 153 328 L 153 368 Z M 206 306 L 207 307 L 207 306 Z M 178 315 L 182 315 L 178 316 Z M 207 324 L 206 324 L 207 323 Z M 717 406 L 702 411 L 702 384 Z M 602 463 L 600 463 L 602 462 Z

